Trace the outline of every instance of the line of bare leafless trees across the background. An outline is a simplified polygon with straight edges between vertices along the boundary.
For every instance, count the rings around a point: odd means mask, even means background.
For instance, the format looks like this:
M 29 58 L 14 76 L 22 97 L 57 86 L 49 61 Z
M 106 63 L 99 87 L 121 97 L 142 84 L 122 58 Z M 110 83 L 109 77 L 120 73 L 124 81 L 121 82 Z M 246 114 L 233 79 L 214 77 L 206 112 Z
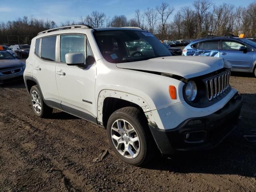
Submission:
M 85 17 L 81 16 L 78 21 L 61 22 L 59 26 L 74 24 L 87 24 L 93 28 L 134 26 L 148 30 L 160 40 L 195 39 L 206 35 L 240 33 L 247 37 L 256 36 L 256 2 L 247 7 L 236 7 L 226 3 L 215 5 L 210 0 L 195 0 L 192 5 L 177 10 L 171 20 L 173 13 L 174 8 L 162 2 L 154 8 L 135 10 L 134 18 L 131 19 L 125 15 L 110 18 L 104 12 L 93 11 Z M 29 41 L 29 38 L 36 36 L 38 32 L 57 26 L 54 20 L 39 20 L 27 16 L 1 22 L 0 44 L 8 44 L 7 36 L 10 39 L 10 36 L 14 35 L 24 36 L 23 40 Z

